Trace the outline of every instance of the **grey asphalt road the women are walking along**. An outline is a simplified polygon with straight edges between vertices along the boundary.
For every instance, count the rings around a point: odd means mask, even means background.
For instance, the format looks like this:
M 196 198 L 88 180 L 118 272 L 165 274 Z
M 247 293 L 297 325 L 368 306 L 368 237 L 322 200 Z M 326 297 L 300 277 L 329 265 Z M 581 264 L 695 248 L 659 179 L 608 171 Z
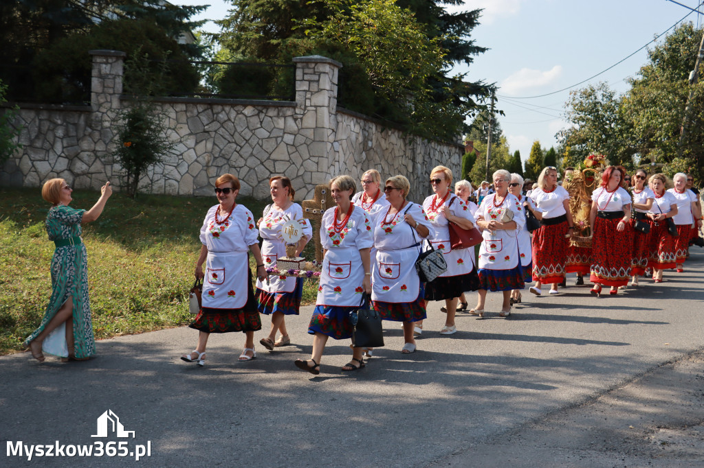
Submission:
M 340 371 L 350 349 L 334 340 L 319 376 L 294 367 L 310 353 L 310 306 L 287 320 L 293 346 L 257 345 L 258 358 L 248 363 L 237 362 L 241 334 L 213 334 L 204 368 L 182 362 L 196 342 L 187 327 L 100 341 L 99 356 L 85 362 L 3 356 L 0 465 L 505 466 L 499 454 L 510 450 L 514 466 L 569 465 L 577 458 L 538 450 L 565 436 L 567 426 L 549 418 L 589 412 L 599 398 L 703 348 L 703 266 L 704 251 L 694 247 L 685 273 L 667 272 L 660 285 L 641 280 L 638 289 L 601 298 L 589 285 L 552 297 L 526 291 L 508 319 L 498 318 L 500 295 L 489 293 L 488 316 L 458 316 L 459 331 L 449 337 L 438 334 L 444 314 L 433 303 L 416 353 L 399 352 L 401 326 L 387 323 L 386 346 L 357 372 Z M 264 336 L 258 332 L 257 341 Z M 134 438 L 92 437 L 106 410 Z M 542 442 L 534 434 L 510 446 L 515 434 L 538 427 L 546 428 Z M 8 454 L 18 441 L 127 441 L 128 454 L 149 445 L 151 455 L 27 461 Z

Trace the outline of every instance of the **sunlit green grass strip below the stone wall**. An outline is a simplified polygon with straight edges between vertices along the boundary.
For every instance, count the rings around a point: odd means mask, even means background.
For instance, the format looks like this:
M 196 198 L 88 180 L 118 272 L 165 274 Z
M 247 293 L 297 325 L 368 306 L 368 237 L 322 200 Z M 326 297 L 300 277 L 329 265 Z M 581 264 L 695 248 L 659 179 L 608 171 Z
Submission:
M 75 190 L 71 206 L 89 209 L 98 196 Z M 268 203 L 246 197 L 238 201 L 255 216 Z M 100 219 L 84 226 L 96 338 L 191 321 L 188 290 L 201 248 L 199 229 L 216 203 L 215 197 L 139 195 L 131 200 L 115 193 Z M 44 229 L 48 211 L 38 188 L 0 189 L 0 354 L 19 351 L 44 316 L 54 253 Z M 304 255 L 313 258 L 313 242 Z M 304 282 L 303 303 L 313 303 L 317 291 L 317 283 Z

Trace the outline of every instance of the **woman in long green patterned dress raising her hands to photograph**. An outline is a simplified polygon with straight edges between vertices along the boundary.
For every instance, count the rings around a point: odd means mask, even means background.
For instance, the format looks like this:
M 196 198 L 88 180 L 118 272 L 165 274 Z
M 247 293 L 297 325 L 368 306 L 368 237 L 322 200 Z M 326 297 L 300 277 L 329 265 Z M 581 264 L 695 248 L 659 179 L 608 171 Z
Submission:
M 51 299 L 42 324 L 25 340 L 32 357 L 40 363 L 44 362 L 42 351 L 75 360 L 95 353 L 81 223 L 98 219 L 113 188 L 106 182 L 98 202 L 88 211 L 68 207 L 71 192 L 63 178 L 52 178 L 42 187 L 42 197 L 52 205 L 46 215 L 46 232 L 56 244 L 51 258 Z

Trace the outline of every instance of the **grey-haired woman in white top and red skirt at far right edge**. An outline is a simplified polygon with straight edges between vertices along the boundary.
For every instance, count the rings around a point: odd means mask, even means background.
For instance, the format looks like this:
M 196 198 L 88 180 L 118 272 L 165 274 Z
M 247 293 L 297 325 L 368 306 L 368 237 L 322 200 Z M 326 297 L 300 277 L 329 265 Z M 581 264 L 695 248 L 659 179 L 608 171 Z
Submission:
M 697 211 L 697 196 L 686 189 L 687 174 L 678 172 L 672 177 L 674 188 L 667 190 L 677 201 L 677 214 L 672 220 L 677 225 L 677 237 L 674 240 L 674 255 L 677 263 L 677 273 L 684 271 L 684 261 L 689 254 L 689 238 L 692 228 L 702 227 L 701 212 Z

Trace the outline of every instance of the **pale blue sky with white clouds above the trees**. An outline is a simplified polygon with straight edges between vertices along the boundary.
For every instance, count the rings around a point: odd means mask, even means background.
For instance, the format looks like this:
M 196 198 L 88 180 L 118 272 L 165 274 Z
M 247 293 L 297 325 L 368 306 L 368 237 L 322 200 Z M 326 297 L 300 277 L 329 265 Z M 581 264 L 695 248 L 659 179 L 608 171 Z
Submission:
M 303 0 L 302 0 L 303 1 Z M 699 0 L 677 0 L 697 8 Z M 202 19 L 218 19 L 231 8 L 222 0 L 176 0 L 175 4 L 211 4 Z M 560 118 L 570 90 L 541 98 L 522 99 L 558 91 L 588 79 L 638 50 L 679 22 L 689 10 L 667 0 L 467 0 L 460 10 L 484 8 L 472 34 L 490 50 L 457 72 L 467 79 L 496 83 L 499 117 L 511 152 L 526 160 L 535 140 L 543 148 L 557 144 L 555 133 L 566 126 Z M 699 17 L 699 18 L 698 18 Z M 198 19 L 201 19 L 198 18 Z M 686 21 L 701 25 L 701 15 Z M 213 23 L 204 27 L 217 30 Z M 650 44 L 650 48 L 654 44 Z M 695 58 L 692 58 L 692 62 Z M 608 82 L 627 91 L 625 80 L 646 63 L 643 49 L 608 72 L 580 84 Z M 693 65 L 693 63 L 692 63 Z

